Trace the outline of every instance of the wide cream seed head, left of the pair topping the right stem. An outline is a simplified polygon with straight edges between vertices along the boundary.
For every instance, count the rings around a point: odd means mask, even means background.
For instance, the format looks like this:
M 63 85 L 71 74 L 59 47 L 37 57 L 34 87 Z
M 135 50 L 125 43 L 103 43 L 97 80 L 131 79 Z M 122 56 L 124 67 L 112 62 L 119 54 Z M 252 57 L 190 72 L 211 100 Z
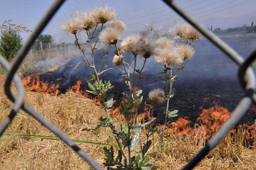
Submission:
M 159 55 L 155 57 L 156 62 L 162 63 L 164 66 L 175 65 L 183 62 L 183 57 L 174 49 L 163 49 Z

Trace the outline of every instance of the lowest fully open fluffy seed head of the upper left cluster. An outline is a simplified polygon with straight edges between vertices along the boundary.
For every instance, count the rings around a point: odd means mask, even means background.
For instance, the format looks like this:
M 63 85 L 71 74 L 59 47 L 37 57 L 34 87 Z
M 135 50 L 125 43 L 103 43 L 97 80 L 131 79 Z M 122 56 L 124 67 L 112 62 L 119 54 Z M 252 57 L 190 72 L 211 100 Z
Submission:
M 121 36 L 121 31 L 114 27 L 106 27 L 100 33 L 100 40 L 105 42 L 108 45 L 115 45 L 117 44 L 117 40 Z

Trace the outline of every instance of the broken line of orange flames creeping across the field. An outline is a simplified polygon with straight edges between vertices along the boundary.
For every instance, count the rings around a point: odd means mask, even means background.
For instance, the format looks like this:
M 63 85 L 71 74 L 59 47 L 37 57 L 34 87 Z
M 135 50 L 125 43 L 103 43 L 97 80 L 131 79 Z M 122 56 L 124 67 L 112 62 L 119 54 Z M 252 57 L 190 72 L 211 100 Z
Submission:
M 41 82 L 39 75 L 36 74 L 30 74 L 27 76 L 27 78 L 22 79 L 22 83 L 24 86 L 28 88 L 30 91 L 36 91 L 42 94 L 50 94 L 50 95 L 60 95 L 60 91 L 58 88 L 60 87 L 59 84 L 49 84 L 45 82 Z M 86 91 L 81 90 L 81 80 L 78 80 L 75 85 L 73 85 L 70 90 L 75 92 L 75 94 L 79 94 L 85 97 L 89 97 L 89 94 Z M 138 87 L 135 88 L 136 91 L 139 90 Z M 65 95 L 68 95 L 66 93 Z M 101 104 L 101 98 L 100 96 L 96 96 L 92 99 L 96 105 Z M 208 99 L 205 99 L 208 100 Z M 127 103 L 127 99 L 123 98 L 121 100 L 121 104 Z M 112 110 L 111 116 L 118 118 L 119 120 L 123 121 L 125 118 L 120 113 L 121 104 L 114 108 Z M 251 108 L 253 111 L 256 111 L 256 107 Z M 144 102 L 144 109 L 143 112 L 139 114 L 139 121 L 140 122 L 146 122 L 151 120 L 151 111 L 152 111 L 152 105 Z M 131 115 L 134 115 L 135 108 L 131 109 L 130 113 Z M 211 107 L 209 109 L 202 109 L 202 112 L 200 116 L 197 118 L 197 121 L 200 121 L 200 126 L 197 128 L 191 128 L 191 121 L 188 120 L 188 117 L 184 118 L 178 118 L 175 122 L 169 121 L 167 122 L 166 129 L 164 131 L 164 134 L 166 136 L 170 136 L 173 134 L 177 135 L 185 135 L 189 133 L 193 133 L 193 138 L 195 141 L 197 139 L 204 136 L 206 140 L 208 140 L 210 137 L 212 137 L 228 120 L 232 113 L 228 111 L 228 109 L 221 107 L 220 105 L 216 104 L 214 107 Z M 131 121 L 133 120 L 133 117 L 131 117 Z M 154 123 L 152 123 L 153 126 Z M 158 125 L 156 127 L 157 130 L 161 130 L 163 128 L 163 125 Z M 243 128 L 243 134 L 246 139 L 246 144 L 248 146 L 255 145 L 255 124 L 249 126 L 247 124 L 242 126 Z M 235 134 L 235 130 L 231 130 L 230 133 L 233 135 Z

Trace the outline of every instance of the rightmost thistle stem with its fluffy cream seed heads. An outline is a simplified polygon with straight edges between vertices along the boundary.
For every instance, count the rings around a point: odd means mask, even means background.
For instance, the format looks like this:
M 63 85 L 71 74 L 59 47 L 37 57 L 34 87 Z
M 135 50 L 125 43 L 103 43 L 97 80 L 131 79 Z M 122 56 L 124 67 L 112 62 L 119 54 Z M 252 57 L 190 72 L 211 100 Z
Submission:
M 164 49 L 160 52 L 159 56 L 155 57 L 156 62 L 161 63 L 163 66 L 163 72 L 159 73 L 163 74 L 163 76 L 159 76 L 159 78 L 165 82 L 166 86 L 166 112 L 162 133 L 160 133 L 160 141 L 158 145 L 158 150 L 156 151 L 154 164 L 158 159 L 160 147 L 162 146 L 167 118 L 176 117 L 176 113 L 178 112 L 177 110 L 169 111 L 170 99 L 175 95 L 175 89 L 173 88 L 175 78 L 179 75 L 180 71 L 184 69 L 183 62 L 191 58 L 195 53 L 195 51 L 191 47 L 191 44 L 197 39 L 200 39 L 200 33 L 189 25 L 179 25 L 175 31 L 174 40 L 175 39 L 177 40 L 176 43 L 171 44 L 170 46 L 164 46 Z M 177 65 L 176 70 L 173 70 L 174 67 L 172 66 L 174 65 Z M 150 93 L 152 93 L 152 91 Z M 162 97 L 163 92 L 158 92 L 158 96 L 159 94 Z M 150 94 L 149 97 L 154 103 L 154 98 L 151 97 Z

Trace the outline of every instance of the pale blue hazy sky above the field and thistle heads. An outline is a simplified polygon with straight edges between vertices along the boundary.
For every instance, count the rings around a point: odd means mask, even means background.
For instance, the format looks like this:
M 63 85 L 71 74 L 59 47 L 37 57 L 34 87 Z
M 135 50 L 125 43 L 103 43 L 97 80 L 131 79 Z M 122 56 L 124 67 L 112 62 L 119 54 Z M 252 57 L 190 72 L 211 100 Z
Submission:
M 11 19 L 15 24 L 23 24 L 33 30 L 53 0 L 0 0 L 0 23 Z M 256 24 L 255 0 L 179 0 L 176 1 L 191 16 L 205 27 L 229 28 L 243 24 Z M 160 0 L 67 0 L 60 8 L 43 33 L 51 34 L 56 42 L 73 42 L 60 25 L 73 11 L 87 11 L 93 7 L 115 8 L 117 19 L 126 23 L 125 35 L 141 31 L 146 25 L 162 28 L 164 31 L 175 24 L 183 23 L 170 7 Z M 125 36 L 124 35 L 124 36 Z M 24 40 L 29 36 L 22 33 Z

